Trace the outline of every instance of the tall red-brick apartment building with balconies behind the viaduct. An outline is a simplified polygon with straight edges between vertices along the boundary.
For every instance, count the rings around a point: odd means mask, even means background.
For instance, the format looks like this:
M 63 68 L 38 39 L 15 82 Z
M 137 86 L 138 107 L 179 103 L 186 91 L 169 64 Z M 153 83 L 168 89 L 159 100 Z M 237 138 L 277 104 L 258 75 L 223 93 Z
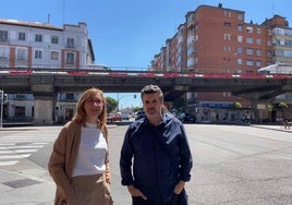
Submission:
M 259 24 L 246 23 L 244 14 L 244 11 L 223 8 L 221 3 L 218 7 L 199 5 L 187 12 L 175 35 L 155 55 L 151 70 L 256 73 L 276 62 L 291 62 L 291 28 L 285 19 L 275 15 Z M 232 107 L 235 101 L 243 108 L 251 108 L 250 100 L 227 92 L 190 92 L 185 98 L 188 109 L 207 120 L 211 109 Z

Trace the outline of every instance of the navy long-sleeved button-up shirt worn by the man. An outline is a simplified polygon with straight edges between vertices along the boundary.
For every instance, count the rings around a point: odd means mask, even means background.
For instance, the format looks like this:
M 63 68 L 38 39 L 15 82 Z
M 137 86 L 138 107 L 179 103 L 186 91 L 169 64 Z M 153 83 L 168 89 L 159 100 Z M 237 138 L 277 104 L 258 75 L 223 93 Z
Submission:
M 180 180 L 190 181 L 192 166 L 185 130 L 177 118 L 163 114 L 155 126 L 145 117 L 129 126 L 120 158 L 122 185 L 134 184 L 148 200 L 165 203 Z

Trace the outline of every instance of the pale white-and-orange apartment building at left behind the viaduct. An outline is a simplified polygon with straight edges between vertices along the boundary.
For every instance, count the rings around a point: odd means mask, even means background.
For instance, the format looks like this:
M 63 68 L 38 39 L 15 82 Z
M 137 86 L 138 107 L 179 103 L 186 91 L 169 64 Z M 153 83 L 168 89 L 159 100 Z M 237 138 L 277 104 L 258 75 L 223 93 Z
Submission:
M 47 23 L 0 20 L 0 69 L 87 69 L 95 61 L 86 23 L 57 27 Z M 58 94 L 54 122 L 70 120 L 80 94 Z M 7 94 L 4 121 L 32 121 L 33 94 Z

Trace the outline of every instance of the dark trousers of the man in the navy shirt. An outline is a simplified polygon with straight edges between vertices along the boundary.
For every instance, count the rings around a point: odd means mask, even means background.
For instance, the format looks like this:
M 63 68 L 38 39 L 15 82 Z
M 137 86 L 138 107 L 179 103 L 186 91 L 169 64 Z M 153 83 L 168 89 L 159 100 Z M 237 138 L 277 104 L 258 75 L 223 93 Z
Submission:
M 171 200 L 166 203 L 151 202 L 149 200 L 145 201 L 139 196 L 132 196 L 132 205 L 187 205 L 187 196 L 185 194 L 185 190 L 183 190 L 180 194 L 173 193 Z

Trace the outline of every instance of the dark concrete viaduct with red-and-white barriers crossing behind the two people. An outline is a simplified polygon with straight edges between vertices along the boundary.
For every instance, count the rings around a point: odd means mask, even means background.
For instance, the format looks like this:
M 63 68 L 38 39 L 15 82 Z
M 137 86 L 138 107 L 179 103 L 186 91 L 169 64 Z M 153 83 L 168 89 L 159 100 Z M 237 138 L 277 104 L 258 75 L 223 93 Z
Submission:
M 60 71 L 60 70 L 59 70 Z M 252 105 L 292 92 L 292 77 L 273 75 L 187 75 L 138 71 L 36 71 L 2 72 L 0 89 L 8 94 L 33 94 L 37 124 L 52 124 L 58 93 L 83 92 L 89 87 L 105 93 L 139 93 L 147 84 L 157 84 L 172 100 L 185 92 L 231 92 L 248 98 Z

